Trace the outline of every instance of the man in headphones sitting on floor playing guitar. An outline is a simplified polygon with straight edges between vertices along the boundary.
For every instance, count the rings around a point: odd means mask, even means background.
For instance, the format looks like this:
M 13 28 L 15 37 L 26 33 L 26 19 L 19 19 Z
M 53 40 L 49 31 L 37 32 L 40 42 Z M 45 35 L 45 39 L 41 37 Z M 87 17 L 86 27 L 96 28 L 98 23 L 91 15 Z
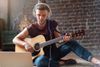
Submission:
M 48 41 L 50 39 L 61 36 L 57 30 L 57 22 L 48 19 L 51 15 L 50 7 L 45 3 L 38 3 L 33 9 L 33 15 L 36 17 L 36 22 L 27 26 L 13 39 L 13 43 L 25 48 L 26 51 L 32 52 L 32 55 L 38 54 L 39 50 L 33 47 L 24 39 L 27 36 L 31 38 L 38 35 L 43 35 Z M 71 36 L 64 35 L 63 42 L 60 47 L 56 47 L 55 43 L 43 47 L 44 54 L 37 57 L 34 61 L 37 67 L 58 67 L 58 61 L 71 51 L 76 55 L 92 62 L 93 64 L 100 64 L 100 61 L 93 57 L 93 55 L 83 48 L 77 41 L 72 40 Z M 37 44 L 36 44 L 37 45 Z M 34 51 L 34 52 L 33 52 Z

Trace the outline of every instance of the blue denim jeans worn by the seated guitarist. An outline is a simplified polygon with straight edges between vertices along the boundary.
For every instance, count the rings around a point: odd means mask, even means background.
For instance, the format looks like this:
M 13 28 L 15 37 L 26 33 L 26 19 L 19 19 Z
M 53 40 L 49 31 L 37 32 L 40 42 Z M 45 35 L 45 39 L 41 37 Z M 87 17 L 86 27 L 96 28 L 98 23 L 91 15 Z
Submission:
M 60 46 L 58 48 L 59 55 L 49 59 L 48 57 L 42 55 L 40 57 L 38 57 L 35 60 L 35 64 L 37 67 L 59 67 L 58 61 L 60 58 L 64 57 L 65 55 L 67 55 L 68 53 L 70 53 L 71 51 L 74 52 L 77 56 L 79 56 L 80 58 L 90 61 L 92 58 L 92 54 L 85 49 L 84 47 L 82 47 L 77 41 L 75 40 L 70 40 L 69 42 L 66 42 L 65 44 L 63 44 L 62 46 Z M 56 55 L 56 53 L 55 53 Z

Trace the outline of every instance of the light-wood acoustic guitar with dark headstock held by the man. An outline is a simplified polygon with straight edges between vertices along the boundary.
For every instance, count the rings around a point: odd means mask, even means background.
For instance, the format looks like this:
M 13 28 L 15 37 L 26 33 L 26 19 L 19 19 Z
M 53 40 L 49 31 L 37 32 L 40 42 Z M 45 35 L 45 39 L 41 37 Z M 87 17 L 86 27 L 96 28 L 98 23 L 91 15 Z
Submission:
M 85 34 L 84 30 L 80 30 L 80 31 L 77 31 L 77 32 L 72 32 L 70 34 L 70 36 L 72 38 L 76 38 L 78 36 L 79 37 L 83 36 L 84 34 Z M 33 47 L 34 50 L 40 50 L 40 52 L 37 55 L 33 56 L 33 59 L 34 59 L 37 56 L 40 56 L 40 55 L 44 54 L 43 49 L 42 49 L 43 47 L 51 45 L 53 43 L 57 43 L 57 42 L 63 40 L 63 37 L 64 37 L 64 35 L 60 36 L 60 37 L 57 37 L 57 38 L 54 38 L 54 39 L 51 39 L 49 41 L 46 41 L 46 39 L 45 39 L 45 37 L 43 35 L 38 35 L 38 36 L 36 36 L 34 38 L 26 38 L 25 41 L 27 43 L 29 43 Z M 16 45 L 15 46 L 15 52 L 26 52 L 26 50 L 25 50 L 24 47 Z

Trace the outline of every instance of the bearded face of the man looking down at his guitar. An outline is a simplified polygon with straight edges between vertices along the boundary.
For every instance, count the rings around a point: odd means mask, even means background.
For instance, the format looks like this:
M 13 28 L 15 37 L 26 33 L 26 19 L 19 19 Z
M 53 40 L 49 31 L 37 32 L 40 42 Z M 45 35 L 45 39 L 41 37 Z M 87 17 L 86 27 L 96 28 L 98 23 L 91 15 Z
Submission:
M 47 10 L 36 10 L 37 23 L 43 25 L 48 18 L 49 12 Z

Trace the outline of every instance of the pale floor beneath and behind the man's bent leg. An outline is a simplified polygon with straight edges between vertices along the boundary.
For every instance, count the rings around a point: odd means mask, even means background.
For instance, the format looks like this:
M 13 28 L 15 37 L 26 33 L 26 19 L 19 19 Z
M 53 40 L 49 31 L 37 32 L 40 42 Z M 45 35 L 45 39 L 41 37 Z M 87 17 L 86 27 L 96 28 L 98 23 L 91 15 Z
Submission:
M 96 55 L 95 57 L 100 59 L 100 55 Z M 60 65 L 60 67 L 95 67 L 92 63 L 79 58 L 74 53 L 70 53 L 69 55 L 65 56 L 62 59 L 65 60 L 65 59 L 70 59 L 70 58 L 75 59 L 77 61 L 77 64 L 75 64 L 75 65 Z M 36 67 L 36 66 L 34 66 L 34 67 Z

